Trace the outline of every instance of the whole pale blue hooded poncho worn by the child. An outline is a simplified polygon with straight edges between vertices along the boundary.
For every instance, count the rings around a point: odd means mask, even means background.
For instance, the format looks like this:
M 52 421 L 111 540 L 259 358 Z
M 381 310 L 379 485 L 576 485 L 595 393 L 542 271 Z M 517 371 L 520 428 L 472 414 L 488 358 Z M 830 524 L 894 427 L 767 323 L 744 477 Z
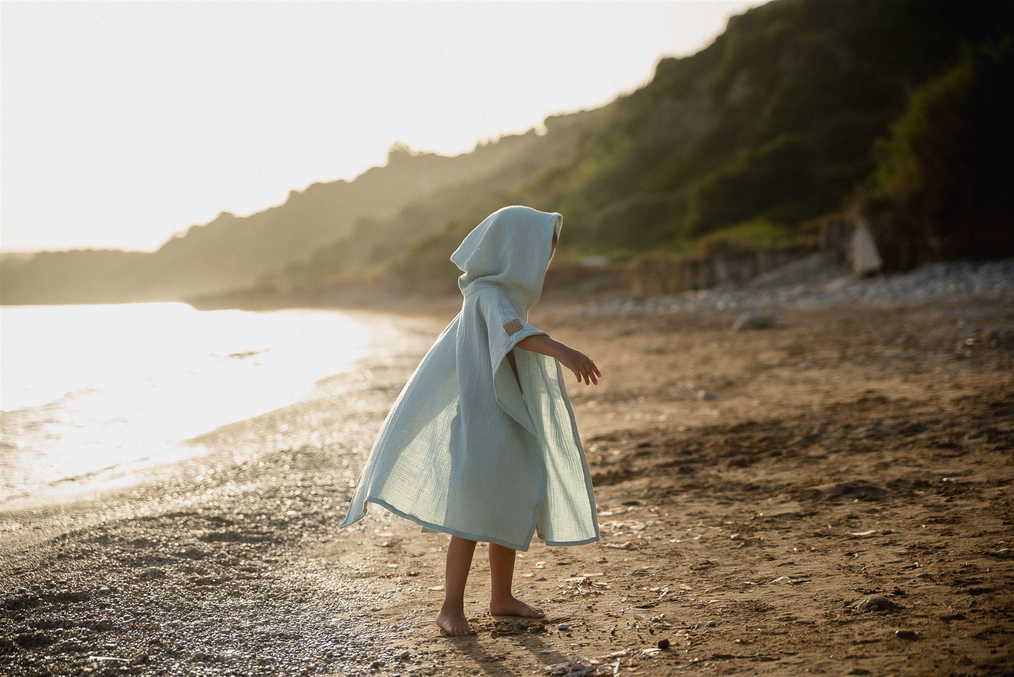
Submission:
M 563 216 L 514 205 L 490 214 L 450 260 L 460 312 L 381 424 L 341 527 L 382 505 L 443 532 L 526 551 L 598 540 L 591 474 L 560 362 L 514 344 L 528 324 Z M 507 355 L 514 354 L 517 379 Z M 520 386 L 518 385 L 520 382 Z

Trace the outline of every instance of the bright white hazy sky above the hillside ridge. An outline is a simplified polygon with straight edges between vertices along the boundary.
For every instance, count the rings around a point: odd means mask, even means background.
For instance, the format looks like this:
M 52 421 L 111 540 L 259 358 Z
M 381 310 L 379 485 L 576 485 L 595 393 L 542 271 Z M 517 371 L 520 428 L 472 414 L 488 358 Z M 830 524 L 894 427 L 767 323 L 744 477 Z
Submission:
M 0 249 L 154 250 L 394 141 L 467 152 L 763 2 L 4 2 Z

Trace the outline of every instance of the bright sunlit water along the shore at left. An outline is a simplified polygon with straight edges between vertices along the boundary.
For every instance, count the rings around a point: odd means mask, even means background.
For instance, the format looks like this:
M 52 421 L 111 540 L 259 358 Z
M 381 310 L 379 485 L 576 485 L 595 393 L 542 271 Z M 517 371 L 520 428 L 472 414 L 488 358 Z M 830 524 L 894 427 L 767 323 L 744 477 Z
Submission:
M 369 342 L 334 311 L 0 307 L 0 504 L 200 454 L 183 441 L 301 399 Z

